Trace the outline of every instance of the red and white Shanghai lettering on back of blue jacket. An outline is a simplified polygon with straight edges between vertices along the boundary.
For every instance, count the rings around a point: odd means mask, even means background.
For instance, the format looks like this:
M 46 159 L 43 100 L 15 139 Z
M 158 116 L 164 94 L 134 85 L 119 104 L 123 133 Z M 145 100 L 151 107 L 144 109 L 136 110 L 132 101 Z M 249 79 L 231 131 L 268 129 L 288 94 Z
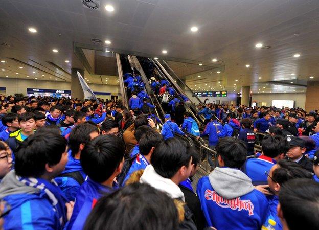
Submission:
M 230 208 L 232 210 L 237 210 L 238 212 L 246 210 L 248 211 L 249 216 L 254 215 L 254 204 L 250 200 L 241 200 L 240 197 L 227 200 L 222 196 L 219 196 L 215 191 L 209 189 L 205 191 L 205 199 L 213 200 L 218 206 L 224 209 Z

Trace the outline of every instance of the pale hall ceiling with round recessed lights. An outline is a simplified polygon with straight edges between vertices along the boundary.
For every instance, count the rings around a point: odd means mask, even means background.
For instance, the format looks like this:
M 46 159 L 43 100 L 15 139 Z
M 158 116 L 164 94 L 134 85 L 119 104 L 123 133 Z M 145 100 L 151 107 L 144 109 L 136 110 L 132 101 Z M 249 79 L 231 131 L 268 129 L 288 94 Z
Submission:
M 306 90 L 308 80 L 318 81 L 317 0 L 95 1 L 98 10 L 84 7 L 82 0 L 2 0 L 0 44 L 7 45 L 0 45 L 0 60 L 6 61 L 0 62 L 0 70 L 5 69 L 0 77 L 70 81 L 71 68 L 84 67 L 74 52 L 76 42 L 100 51 L 192 60 L 185 61 L 192 67 L 170 64 L 193 90 L 239 93 L 241 86 L 250 85 L 253 93 L 298 93 Z M 115 10 L 107 12 L 106 4 Z M 198 31 L 191 32 L 192 26 Z M 30 33 L 30 27 L 37 33 Z M 257 43 L 271 48 L 256 48 Z M 300 57 L 293 57 L 297 53 Z M 197 63 L 204 67 L 195 67 Z M 94 68 L 113 76 L 105 66 Z M 85 77 L 92 83 L 99 79 L 92 73 Z M 285 85 L 274 83 L 287 80 Z M 304 83 L 290 83 L 297 80 Z

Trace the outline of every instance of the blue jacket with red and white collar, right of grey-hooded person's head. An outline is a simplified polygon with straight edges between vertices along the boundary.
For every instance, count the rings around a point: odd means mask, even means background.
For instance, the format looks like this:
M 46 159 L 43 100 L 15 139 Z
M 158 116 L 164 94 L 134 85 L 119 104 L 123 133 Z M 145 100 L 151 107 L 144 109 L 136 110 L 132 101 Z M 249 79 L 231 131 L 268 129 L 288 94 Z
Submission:
M 243 172 L 252 179 L 253 185 L 267 185 L 266 171 L 276 164 L 276 160 L 260 155 L 258 158 L 248 158 L 243 165 Z

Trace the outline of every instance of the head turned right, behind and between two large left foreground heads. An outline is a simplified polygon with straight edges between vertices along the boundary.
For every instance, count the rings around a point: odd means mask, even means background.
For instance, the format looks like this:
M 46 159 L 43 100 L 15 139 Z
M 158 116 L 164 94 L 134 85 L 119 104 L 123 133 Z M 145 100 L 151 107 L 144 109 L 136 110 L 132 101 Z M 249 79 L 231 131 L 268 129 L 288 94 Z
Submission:
M 72 156 L 80 153 L 84 146 L 99 135 L 99 129 L 88 123 L 79 124 L 72 129 L 69 136 L 69 148 Z

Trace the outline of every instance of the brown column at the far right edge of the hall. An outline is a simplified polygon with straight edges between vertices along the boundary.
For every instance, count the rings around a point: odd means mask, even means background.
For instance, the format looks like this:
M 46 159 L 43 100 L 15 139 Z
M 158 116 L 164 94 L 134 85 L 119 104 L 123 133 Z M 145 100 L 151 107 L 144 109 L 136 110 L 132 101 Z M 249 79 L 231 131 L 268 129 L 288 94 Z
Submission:
M 311 110 L 318 109 L 318 105 L 319 105 L 319 81 L 308 81 L 305 110 L 307 112 L 310 112 Z

